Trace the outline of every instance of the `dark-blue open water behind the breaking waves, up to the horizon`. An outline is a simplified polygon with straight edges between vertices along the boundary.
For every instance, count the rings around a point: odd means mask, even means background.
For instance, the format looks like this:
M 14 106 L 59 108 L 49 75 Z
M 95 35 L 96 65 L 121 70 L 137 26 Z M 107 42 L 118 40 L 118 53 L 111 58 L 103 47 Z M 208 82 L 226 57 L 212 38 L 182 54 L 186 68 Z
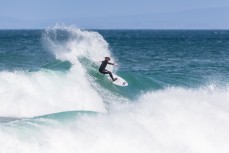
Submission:
M 33 70 L 55 63 L 55 57 L 43 42 L 44 31 L 1 30 L 0 70 Z M 109 49 L 119 61 L 120 73 L 130 79 L 138 79 L 136 75 L 144 77 L 135 83 L 152 81 L 157 89 L 167 86 L 199 87 L 212 81 L 227 83 L 229 31 L 93 31 L 100 33 L 109 43 Z M 65 68 L 64 62 L 56 64 L 55 68 Z

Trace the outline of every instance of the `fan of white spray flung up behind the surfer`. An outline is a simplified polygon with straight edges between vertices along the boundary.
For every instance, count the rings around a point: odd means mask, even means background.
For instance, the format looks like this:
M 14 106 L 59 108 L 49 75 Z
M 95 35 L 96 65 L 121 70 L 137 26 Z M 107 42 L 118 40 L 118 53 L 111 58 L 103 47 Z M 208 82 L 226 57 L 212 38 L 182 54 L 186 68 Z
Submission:
M 111 56 L 108 43 L 98 32 L 80 30 L 75 26 L 56 25 L 48 28 L 43 39 L 57 59 L 72 64 L 78 64 L 77 58 L 80 56 L 93 62 Z

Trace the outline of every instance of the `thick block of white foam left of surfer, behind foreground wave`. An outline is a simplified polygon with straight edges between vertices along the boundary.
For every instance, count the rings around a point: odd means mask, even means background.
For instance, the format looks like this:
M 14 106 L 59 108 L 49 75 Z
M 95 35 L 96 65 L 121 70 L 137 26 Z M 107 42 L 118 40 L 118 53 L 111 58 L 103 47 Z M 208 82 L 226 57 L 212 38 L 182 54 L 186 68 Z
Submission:
M 105 111 L 85 76 L 40 70 L 0 73 L 0 116 L 31 117 L 66 110 Z

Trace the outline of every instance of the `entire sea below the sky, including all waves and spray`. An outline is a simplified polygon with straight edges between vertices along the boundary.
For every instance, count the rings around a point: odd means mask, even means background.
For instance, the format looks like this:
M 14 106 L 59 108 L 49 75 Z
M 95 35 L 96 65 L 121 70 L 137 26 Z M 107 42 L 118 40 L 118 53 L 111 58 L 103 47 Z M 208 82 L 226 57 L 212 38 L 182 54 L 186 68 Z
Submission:
M 229 31 L 0 30 L 0 104 L 0 153 L 228 153 Z

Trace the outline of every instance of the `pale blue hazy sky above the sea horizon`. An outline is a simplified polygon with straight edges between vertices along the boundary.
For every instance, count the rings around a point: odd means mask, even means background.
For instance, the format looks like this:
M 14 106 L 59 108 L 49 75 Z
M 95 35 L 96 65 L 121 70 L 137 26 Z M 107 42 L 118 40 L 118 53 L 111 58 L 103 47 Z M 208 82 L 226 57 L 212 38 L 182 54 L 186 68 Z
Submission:
M 229 0 L 0 0 L 0 29 L 229 29 Z

